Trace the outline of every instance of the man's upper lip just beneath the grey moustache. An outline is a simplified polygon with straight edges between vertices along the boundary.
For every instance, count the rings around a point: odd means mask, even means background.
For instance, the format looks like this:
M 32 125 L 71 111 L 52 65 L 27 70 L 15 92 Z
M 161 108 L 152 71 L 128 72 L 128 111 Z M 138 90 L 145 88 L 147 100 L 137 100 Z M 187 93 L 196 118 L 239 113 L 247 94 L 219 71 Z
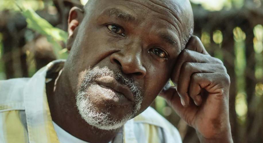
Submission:
M 100 84 L 100 85 L 103 85 L 105 87 L 112 88 L 116 92 L 119 92 L 119 93 L 123 94 L 127 99 L 129 99 L 129 100 L 131 100 L 133 102 L 135 101 L 134 94 L 132 93 L 130 88 L 127 87 L 127 86 L 124 86 L 123 84 L 120 84 L 113 77 L 108 77 L 107 76 L 107 77 L 99 78 L 97 80 L 97 83 Z

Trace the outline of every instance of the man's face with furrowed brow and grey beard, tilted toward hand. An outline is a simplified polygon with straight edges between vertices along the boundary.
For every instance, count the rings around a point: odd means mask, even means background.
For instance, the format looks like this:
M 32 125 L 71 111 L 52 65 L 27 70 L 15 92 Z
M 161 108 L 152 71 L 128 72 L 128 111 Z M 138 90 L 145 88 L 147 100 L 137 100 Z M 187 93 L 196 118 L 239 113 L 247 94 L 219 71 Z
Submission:
M 174 1 L 90 3 L 74 31 L 64 71 L 89 124 L 92 116 L 107 116 L 94 122 L 107 119 L 109 125 L 114 121 L 121 126 L 150 106 L 163 89 L 189 25 Z

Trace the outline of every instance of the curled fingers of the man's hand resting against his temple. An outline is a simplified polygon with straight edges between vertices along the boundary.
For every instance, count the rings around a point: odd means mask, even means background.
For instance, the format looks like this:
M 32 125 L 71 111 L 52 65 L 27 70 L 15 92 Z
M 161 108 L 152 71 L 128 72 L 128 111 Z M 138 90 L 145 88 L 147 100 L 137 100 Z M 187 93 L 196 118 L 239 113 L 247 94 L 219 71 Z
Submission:
M 179 54 L 171 75 L 171 80 L 175 84 L 183 106 L 189 106 L 192 100 L 197 106 L 202 104 L 204 98 L 202 97 L 204 91 L 202 88 L 205 86 L 200 85 L 211 84 L 211 80 L 209 80 L 211 77 L 206 77 L 209 73 L 227 75 L 223 62 L 211 57 L 200 39 L 192 36 L 186 48 Z M 216 78 L 213 80 L 217 80 Z

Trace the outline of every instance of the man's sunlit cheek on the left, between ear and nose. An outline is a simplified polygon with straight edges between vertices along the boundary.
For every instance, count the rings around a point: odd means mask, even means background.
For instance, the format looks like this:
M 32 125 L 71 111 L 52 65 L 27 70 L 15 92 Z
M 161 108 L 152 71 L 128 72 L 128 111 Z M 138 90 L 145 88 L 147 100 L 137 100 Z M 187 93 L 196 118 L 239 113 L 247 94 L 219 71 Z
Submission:
M 100 31 L 78 33 L 65 64 L 72 90 L 77 93 L 87 70 L 105 59 L 118 47 L 109 44 Z

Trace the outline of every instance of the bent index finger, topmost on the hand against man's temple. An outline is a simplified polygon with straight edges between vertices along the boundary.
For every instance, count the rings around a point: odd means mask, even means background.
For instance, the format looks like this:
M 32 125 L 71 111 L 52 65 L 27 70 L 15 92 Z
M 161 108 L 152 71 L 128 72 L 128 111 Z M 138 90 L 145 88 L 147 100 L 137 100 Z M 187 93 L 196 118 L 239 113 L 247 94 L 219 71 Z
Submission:
M 198 53 L 202 53 L 205 55 L 209 55 L 204 45 L 202 44 L 201 40 L 197 36 L 192 36 L 188 43 L 186 44 L 185 49 L 196 51 Z

